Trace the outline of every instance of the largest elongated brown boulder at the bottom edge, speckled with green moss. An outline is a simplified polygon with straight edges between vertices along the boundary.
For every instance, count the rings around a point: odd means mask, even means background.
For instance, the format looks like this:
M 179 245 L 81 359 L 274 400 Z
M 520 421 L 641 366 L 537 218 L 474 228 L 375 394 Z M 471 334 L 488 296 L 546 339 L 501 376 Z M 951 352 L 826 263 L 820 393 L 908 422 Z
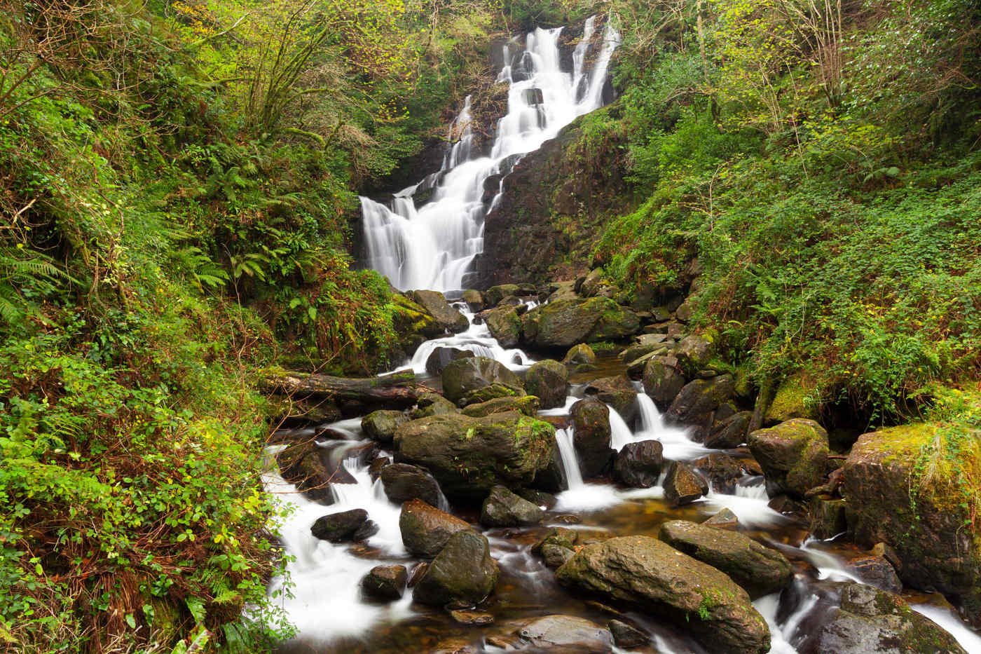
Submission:
M 560 583 L 627 602 L 691 629 L 710 651 L 763 654 L 766 621 L 726 574 L 647 536 L 587 545 L 555 572 Z

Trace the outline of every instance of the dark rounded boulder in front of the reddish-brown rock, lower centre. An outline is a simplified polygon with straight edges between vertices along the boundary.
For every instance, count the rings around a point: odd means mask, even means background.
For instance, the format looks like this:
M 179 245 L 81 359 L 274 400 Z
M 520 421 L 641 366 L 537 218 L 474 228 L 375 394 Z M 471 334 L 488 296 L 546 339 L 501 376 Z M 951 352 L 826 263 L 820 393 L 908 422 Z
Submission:
M 488 539 L 474 531 L 458 531 L 419 579 L 412 598 L 435 606 L 471 607 L 490 595 L 499 577 Z

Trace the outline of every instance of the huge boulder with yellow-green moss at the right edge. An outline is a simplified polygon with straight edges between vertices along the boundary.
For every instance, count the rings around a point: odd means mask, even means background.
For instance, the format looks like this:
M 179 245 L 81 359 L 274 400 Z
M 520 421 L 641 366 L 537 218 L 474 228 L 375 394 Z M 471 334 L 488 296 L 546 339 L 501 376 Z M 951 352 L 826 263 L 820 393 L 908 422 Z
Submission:
M 976 492 L 971 480 L 981 478 L 981 444 L 963 439 L 956 465 L 945 465 L 935 450 L 938 438 L 943 444 L 944 436 L 926 424 L 860 436 L 844 468 L 849 527 L 859 545 L 894 548 L 905 583 L 955 596 L 981 626 L 981 531 L 967 525 L 964 499 Z

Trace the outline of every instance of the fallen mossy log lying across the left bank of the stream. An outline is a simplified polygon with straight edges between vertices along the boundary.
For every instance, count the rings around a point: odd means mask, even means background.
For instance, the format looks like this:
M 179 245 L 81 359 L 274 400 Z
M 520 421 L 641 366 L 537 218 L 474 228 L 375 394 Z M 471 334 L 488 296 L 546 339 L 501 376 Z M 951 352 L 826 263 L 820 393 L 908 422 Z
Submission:
M 261 382 L 266 393 L 292 398 L 326 398 L 366 404 L 413 405 L 432 388 L 416 382 L 411 370 L 393 372 L 379 377 L 333 377 L 306 372 L 270 374 Z

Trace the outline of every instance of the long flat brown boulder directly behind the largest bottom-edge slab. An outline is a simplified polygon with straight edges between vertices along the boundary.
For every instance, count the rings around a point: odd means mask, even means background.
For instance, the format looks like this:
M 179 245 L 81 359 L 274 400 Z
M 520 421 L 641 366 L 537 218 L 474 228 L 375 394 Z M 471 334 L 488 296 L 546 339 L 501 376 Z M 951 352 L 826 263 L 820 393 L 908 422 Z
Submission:
M 670 520 L 661 525 L 658 538 L 725 572 L 753 599 L 776 592 L 794 579 L 794 570 L 784 555 L 736 531 Z

